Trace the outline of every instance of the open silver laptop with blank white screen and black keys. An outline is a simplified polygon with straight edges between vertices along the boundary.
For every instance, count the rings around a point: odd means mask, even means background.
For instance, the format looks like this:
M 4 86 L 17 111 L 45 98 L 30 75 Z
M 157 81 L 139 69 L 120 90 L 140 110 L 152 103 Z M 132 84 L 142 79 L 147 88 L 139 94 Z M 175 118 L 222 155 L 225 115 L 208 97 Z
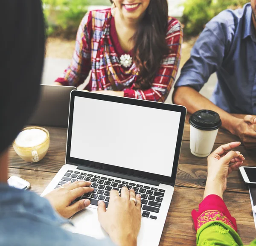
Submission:
M 174 192 L 186 108 L 183 106 L 72 91 L 66 163 L 41 196 L 67 181 L 91 181 L 91 204 L 66 229 L 102 238 L 98 200 L 108 207 L 111 189 L 141 194 L 139 246 L 157 246 Z

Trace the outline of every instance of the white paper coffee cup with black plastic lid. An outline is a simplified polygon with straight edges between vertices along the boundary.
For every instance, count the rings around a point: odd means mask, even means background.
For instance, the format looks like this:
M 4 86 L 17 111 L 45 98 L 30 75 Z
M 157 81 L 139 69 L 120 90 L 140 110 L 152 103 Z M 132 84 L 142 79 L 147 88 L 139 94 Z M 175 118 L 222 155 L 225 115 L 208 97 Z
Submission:
M 199 110 L 189 119 L 190 151 L 193 155 L 206 157 L 212 151 L 221 119 L 211 110 Z

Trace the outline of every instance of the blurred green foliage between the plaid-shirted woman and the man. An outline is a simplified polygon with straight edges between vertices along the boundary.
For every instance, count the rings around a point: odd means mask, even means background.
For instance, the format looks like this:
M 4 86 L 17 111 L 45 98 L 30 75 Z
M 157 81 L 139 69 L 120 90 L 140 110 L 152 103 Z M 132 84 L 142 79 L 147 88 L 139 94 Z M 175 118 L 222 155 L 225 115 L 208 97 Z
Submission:
M 242 8 L 248 0 L 186 0 L 181 22 L 185 35 L 198 35 L 224 9 Z

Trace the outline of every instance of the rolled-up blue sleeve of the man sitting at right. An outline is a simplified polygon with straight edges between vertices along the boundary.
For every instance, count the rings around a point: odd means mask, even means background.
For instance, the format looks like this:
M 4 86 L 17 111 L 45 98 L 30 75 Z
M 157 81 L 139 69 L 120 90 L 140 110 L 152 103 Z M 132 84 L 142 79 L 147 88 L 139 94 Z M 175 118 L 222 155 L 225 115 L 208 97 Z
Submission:
M 191 51 L 191 57 L 181 69 L 175 87 L 189 86 L 200 91 L 210 75 L 221 66 L 229 39 L 229 28 L 218 16 L 207 23 Z

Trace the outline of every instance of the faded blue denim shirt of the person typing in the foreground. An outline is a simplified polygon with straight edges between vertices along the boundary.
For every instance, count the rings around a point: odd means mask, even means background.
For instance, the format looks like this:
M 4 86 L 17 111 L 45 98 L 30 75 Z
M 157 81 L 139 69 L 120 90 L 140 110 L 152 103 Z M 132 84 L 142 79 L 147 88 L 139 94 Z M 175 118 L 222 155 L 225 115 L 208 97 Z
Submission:
M 0 183 L 0 246 L 113 246 L 109 238 L 96 240 L 67 232 L 48 200 L 31 191 Z

